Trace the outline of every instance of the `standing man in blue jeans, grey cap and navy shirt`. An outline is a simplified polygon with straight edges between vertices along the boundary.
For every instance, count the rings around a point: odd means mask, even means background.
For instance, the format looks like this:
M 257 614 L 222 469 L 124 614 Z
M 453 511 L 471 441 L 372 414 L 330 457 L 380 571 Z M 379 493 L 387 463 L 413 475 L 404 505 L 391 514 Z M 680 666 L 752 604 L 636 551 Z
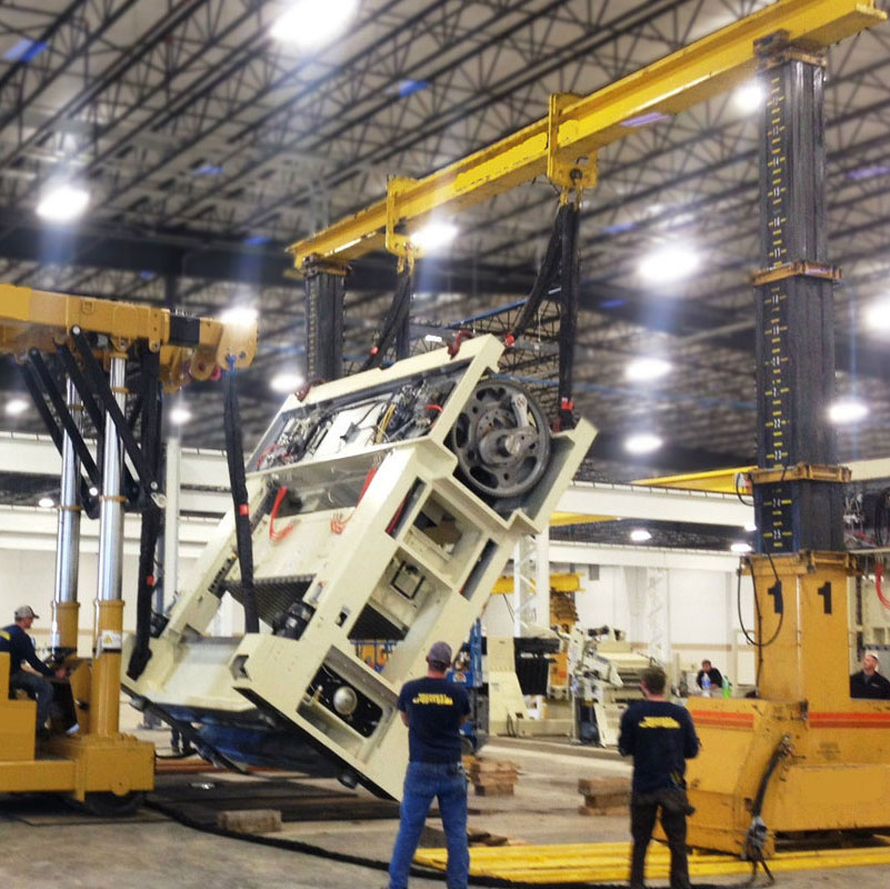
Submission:
M 448 889 L 467 889 L 470 850 L 467 845 L 467 777 L 461 762 L 460 727 L 470 713 L 467 692 L 446 679 L 451 648 L 433 642 L 427 655 L 427 676 L 406 682 L 399 695 L 402 722 L 408 726 L 408 771 L 400 808 L 399 836 L 389 866 L 389 889 L 407 889 L 433 797 L 448 847 Z

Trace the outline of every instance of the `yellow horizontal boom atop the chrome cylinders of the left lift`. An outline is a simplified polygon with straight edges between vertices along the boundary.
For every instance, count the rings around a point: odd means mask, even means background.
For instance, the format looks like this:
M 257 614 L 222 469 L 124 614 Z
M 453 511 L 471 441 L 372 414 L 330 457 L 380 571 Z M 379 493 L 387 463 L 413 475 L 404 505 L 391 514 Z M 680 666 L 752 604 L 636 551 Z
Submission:
M 168 391 L 210 378 L 217 368 L 226 368 L 230 356 L 237 368 L 249 367 L 257 351 L 256 322 L 226 324 L 152 306 L 0 284 L 0 353 L 52 352 L 74 327 L 108 337 L 110 351 L 126 351 L 137 340 L 160 351 L 161 382 Z

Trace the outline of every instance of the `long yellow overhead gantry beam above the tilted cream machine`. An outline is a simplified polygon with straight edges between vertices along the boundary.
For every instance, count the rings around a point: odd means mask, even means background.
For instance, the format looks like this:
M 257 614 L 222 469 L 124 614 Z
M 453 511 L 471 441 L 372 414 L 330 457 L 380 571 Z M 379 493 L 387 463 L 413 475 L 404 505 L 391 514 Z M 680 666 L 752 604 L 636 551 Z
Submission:
M 433 211 L 453 213 L 548 168 L 564 169 L 567 161 L 591 157 L 579 169 L 593 168 L 600 147 L 751 78 L 754 43 L 763 38 L 782 33 L 796 46 L 820 50 L 886 18 L 874 0 L 779 0 L 590 96 L 560 97 L 547 118 L 423 179 L 400 179 L 389 197 L 390 227 L 404 223 L 411 232 Z M 309 258 L 346 262 L 382 248 L 387 220 L 384 199 L 297 241 L 288 248 L 294 267 L 302 270 Z

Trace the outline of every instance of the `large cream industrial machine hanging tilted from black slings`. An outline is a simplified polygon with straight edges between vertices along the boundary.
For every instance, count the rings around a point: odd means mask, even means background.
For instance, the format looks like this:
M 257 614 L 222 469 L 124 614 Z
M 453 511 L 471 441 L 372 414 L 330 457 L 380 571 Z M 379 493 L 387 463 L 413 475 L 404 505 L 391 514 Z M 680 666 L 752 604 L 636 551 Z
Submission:
M 482 337 L 288 398 L 247 461 L 237 510 L 252 576 L 232 511 L 141 675 L 123 678 L 134 705 L 207 756 L 291 765 L 313 748 L 346 782 L 398 798 L 401 685 L 426 671 L 433 641 L 457 651 L 469 637 L 596 434 L 584 421 L 551 434 L 498 376 L 503 348 Z M 207 636 L 227 595 L 260 631 Z M 381 672 L 354 640 L 392 643 Z

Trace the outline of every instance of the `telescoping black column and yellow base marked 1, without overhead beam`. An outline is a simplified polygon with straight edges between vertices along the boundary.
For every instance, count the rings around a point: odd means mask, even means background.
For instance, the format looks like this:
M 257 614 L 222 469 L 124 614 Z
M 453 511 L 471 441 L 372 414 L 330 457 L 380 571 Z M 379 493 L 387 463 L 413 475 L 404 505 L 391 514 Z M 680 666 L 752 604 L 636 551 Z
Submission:
M 807 48 L 762 46 L 762 271 L 757 299 L 756 699 L 690 700 L 692 846 L 758 860 L 777 835 L 890 828 L 890 701 L 850 698 L 843 482 L 826 261 L 822 86 Z

